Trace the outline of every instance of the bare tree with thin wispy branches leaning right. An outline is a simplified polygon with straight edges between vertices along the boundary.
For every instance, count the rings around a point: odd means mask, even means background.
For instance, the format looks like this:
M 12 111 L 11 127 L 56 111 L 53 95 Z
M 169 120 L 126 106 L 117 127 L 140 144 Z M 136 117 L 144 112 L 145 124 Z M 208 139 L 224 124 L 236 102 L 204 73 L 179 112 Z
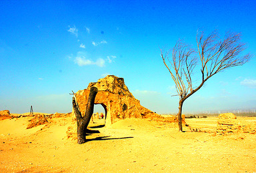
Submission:
M 175 47 L 169 51 L 161 50 L 163 63 L 171 73 L 179 95 L 178 124 L 179 131 L 182 131 L 181 113 L 183 102 L 192 94 L 197 92 L 204 83 L 213 75 L 227 69 L 243 65 L 251 58 L 250 54 L 242 55 L 245 44 L 241 43 L 239 33 L 226 33 L 223 40 L 218 36 L 217 31 L 205 37 L 203 32 L 197 33 L 197 51 L 177 41 Z M 169 54 L 171 53 L 171 57 Z M 200 62 L 201 83 L 193 86 L 192 77 L 197 62 Z

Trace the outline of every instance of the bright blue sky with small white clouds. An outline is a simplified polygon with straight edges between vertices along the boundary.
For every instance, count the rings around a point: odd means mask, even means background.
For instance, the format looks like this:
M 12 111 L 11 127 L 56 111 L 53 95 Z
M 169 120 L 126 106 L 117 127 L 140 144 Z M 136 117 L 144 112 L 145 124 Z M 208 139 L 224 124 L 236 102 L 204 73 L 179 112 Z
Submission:
M 71 112 L 71 90 L 116 75 L 143 106 L 175 113 L 179 98 L 171 96 L 175 85 L 160 49 L 178 39 L 196 48 L 198 29 L 217 29 L 222 36 L 241 33 L 245 53 L 255 55 L 255 7 L 256 1 L 2 0 L 0 110 Z M 184 112 L 256 109 L 255 65 L 253 57 L 215 75 L 185 101 Z

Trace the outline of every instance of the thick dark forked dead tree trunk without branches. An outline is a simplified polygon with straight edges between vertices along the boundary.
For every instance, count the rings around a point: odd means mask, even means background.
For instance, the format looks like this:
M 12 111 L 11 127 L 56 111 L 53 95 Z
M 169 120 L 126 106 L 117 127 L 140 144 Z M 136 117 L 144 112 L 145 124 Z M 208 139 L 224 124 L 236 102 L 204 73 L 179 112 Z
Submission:
M 75 102 L 75 97 L 73 97 L 73 110 L 75 112 L 75 116 L 77 117 L 77 143 L 83 144 L 86 140 L 86 129 L 90 122 L 91 116 L 93 114 L 93 107 L 94 107 L 94 100 L 95 96 L 98 92 L 98 89 L 95 87 L 91 87 L 85 115 L 82 116 L 81 112 L 79 111 L 78 105 Z

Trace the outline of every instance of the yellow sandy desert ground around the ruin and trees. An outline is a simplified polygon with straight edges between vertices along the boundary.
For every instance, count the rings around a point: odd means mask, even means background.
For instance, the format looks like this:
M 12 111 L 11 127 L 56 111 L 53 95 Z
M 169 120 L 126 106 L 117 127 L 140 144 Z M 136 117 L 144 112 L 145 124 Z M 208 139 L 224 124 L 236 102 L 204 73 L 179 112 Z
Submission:
M 142 119 L 105 128 L 95 120 L 85 144 L 73 139 L 70 116 L 26 129 L 31 118 L 0 121 L 0 172 L 256 172 L 256 135 L 216 135 L 217 117 L 186 119 L 207 132 Z

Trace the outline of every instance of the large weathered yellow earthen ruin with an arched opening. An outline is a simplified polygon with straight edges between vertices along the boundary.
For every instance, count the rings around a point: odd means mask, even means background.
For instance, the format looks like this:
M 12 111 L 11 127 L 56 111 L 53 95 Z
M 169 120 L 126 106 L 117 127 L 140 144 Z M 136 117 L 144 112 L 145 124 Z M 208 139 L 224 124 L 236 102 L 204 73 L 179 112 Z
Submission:
M 105 109 L 105 125 L 110 126 L 114 122 L 125 118 L 148 118 L 150 120 L 161 120 L 165 122 L 176 122 L 176 117 L 164 118 L 155 112 L 141 106 L 131 92 L 129 92 L 123 78 L 108 75 L 99 79 L 97 83 L 89 83 L 87 89 L 75 93 L 77 104 L 82 114 L 89 97 L 91 87 L 98 88 L 95 104 L 101 104 Z

